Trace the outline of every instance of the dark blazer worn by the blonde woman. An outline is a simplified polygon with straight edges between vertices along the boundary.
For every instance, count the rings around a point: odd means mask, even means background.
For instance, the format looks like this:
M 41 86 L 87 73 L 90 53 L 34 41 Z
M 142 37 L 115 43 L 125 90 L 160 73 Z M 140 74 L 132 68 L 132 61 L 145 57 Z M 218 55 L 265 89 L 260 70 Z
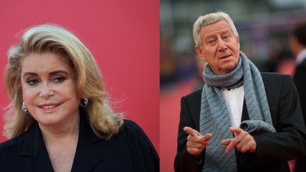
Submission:
M 79 141 L 72 171 L 159 171 L 159 157 L 145 132 L 124 120 L 119 134 L 106 141 L 94 134 L 80 114 Z M 38 124 L 0 144 L 1 172 L 53 171 Z

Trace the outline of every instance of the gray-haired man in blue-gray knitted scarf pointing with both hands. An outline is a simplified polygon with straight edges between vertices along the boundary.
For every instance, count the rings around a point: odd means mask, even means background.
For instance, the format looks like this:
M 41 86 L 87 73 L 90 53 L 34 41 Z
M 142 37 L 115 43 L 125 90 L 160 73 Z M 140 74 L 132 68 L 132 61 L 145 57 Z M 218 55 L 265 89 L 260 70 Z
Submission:
M 289 171 L 306 153 L 306 132 L 290 76 L 261 74 L 240 52 L 227 13 L 200 16 L 196 52 L 203 89 L 181 98 L 176 171 Z

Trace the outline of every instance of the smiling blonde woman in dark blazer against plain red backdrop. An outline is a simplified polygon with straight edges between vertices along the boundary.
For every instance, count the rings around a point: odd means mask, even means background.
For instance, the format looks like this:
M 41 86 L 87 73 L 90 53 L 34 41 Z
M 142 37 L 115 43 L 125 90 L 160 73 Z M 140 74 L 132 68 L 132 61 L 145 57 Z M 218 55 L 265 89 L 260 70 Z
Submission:
M 152 143 L 115 117 L 94 57 L 68 30 L 26 30 L 5 79 L 11 139 L 0 144 L 0 171 L 159 171 Z

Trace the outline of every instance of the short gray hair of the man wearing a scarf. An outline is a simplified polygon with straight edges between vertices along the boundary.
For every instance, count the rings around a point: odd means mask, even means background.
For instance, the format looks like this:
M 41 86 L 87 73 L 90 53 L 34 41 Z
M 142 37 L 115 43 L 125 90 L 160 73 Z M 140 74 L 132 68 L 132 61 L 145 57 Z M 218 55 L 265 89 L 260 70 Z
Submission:
M 199 16 L 198 20 L 193 23 L 193 40 L 195 41 L 196 45 L 202 47 L 202 40 L 200 35 L 200 30 L 205 25 L 210 25 L 212 23 L 216 23 L 218 21 L 226 21 L 229 25 L 229 28 L 232 29 L 232 32 L 235 36 L 238 36 L 238 32 L 236 27 L 234 26 L 234 22 L 232 18 L 225 12 L 216 12 L 216 13 L 208 13 L 205 16 Z

